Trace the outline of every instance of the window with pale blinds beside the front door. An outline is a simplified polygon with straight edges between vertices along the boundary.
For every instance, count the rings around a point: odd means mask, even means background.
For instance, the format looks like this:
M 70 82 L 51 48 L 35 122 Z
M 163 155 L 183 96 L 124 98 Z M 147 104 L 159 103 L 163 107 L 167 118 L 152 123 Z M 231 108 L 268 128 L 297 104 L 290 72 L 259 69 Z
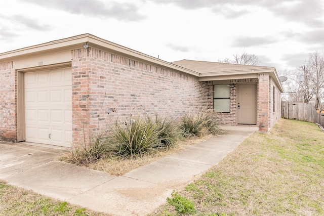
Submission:
M 229 112 L 229 84 L 214 85 L 214 111 Z

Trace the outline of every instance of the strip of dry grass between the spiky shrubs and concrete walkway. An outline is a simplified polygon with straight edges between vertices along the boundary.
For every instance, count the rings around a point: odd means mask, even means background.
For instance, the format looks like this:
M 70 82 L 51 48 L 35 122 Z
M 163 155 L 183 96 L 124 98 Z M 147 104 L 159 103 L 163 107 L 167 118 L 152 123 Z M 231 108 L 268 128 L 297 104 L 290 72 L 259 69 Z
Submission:
M 177 145 L 165 150 L 165 151 L 156 151 L 152 154 L 148 154 L 143 157 L 136 158 L 105 158 L 100 159 L 96 163 L 91 163 L 88 165 L 89 168 L 105 171 L 114 176 L 123 176 L 127 172 L 136 169 L 138 167 L 147 165 L 159 158 L 163 158 L 168 154 L 172 154 L 177 151 L 181 151 L 185 149 L 189 145 L 193 145 L 199 142 L 206 141 L 206 139 L 210 138 L 210 136 L 206 136 L 204 138 L 192 137 L 187 139 L 186 141 L 178 141 Z

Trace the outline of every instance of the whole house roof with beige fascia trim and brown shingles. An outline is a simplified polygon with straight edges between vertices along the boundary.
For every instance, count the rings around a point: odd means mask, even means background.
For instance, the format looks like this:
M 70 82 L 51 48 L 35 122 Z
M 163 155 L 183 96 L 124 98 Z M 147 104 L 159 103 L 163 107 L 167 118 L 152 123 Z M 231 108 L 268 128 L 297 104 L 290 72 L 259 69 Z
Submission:
M 256 66 L 256 65 L 238 65 L 219 62 L 181 60 L 176 62 L 167 62 L 130 48 L 120 46 L 111 41 L 102 39 L 95 35 L 86 33 L 68 38 L 58 39 L 44 44 L 26 47 L 18 50 L 0 53 L 0 63 L 16 61 L 17 59 L 30 59 L 48 54 L 58 53 L 61 51 L 70 51 L 80 49 L 84 44 L 89 47 L 101 49 L 103 51 L 118 54 L 133 60 L 149 63 L 158 67 L 174 70 L 183 74 L 195 76 L 199 81 L 224 80 L 234 78 L 251 78 L 258 77 L 259 73 L 269 73 L 279 89 L 282 92 L 282 85 L 277 76 L 274 67 Z M 65 60 L 70 61 L 70 56 L 66 55 Z M 34 64 L 34 65 L 33 65 Z M 37 68 L 37 61 L 30 63 L 29 68 Z M 20 69 L 20 68 L 16 68 Z

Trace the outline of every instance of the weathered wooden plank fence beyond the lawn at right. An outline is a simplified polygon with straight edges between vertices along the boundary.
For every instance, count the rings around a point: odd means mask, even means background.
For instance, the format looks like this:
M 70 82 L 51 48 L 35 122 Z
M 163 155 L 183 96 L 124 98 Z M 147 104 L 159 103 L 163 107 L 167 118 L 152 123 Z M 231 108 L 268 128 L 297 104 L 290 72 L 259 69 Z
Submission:
M 281 101 L 281 117 L 315 122 L 324 127 L 324 114 L 317 113 L 313 104 Z

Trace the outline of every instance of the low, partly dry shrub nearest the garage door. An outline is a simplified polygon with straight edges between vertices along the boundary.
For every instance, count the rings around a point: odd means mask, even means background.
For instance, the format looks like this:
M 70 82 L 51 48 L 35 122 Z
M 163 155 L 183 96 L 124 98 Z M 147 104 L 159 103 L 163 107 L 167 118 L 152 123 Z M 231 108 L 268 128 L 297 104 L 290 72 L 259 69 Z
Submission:
M 69 150 L 67 160 L 76 164 L 89 164 L 98 161 L 109 151 L 103 134 L 96 134 L 91 138 L 89 144 L 86 142 L 82 146 L 73 146 Z

